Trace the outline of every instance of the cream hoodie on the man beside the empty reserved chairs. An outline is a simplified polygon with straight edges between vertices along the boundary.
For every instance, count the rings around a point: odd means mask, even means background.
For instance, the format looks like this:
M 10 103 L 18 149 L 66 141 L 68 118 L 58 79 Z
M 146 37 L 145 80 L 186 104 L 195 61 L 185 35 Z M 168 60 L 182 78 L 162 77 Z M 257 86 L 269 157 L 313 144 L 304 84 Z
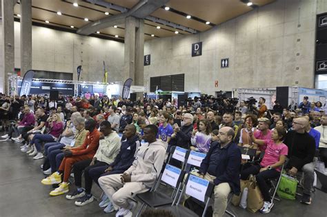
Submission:
M 130 174 L 132 182 L 141 182 L 151 188 L 164 165 L 166 147 L 166 143 L 160 140 L 142 145 L 132 166 L 124 173 Z

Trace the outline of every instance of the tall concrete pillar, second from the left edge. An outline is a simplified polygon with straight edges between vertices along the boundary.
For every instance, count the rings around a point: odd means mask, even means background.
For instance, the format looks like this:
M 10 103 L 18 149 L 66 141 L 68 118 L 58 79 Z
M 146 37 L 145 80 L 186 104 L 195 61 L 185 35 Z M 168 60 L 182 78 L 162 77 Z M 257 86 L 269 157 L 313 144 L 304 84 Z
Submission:
M 21 76 L 32 70 L 32 0 L 21 1 Z

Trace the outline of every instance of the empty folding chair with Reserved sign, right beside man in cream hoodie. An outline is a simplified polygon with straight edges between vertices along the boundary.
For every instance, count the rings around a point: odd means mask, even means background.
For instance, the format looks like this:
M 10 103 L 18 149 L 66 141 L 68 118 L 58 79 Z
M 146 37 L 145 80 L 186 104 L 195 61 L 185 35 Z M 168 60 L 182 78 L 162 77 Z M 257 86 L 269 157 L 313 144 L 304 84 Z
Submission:
M 172 196 L 168 196 L 167 194 L 157 192 L 156 188 L 152 189 L 152 191 L 150 192 L 137 194 L 135 198 L 137 198 L 137 200 L 140 200 L 142 202 L 139 211 L 137 211 L 137 216 L 139 216 L 141 211 L 146 207 L 157 208 L 157 207 L 163 207 L 166 205 L 174 204 L 178 196 L 177 193 L 181 188 L 184 179 L 184 174 L 185 173 L 183 170 L 167 164 L 164 169 L 164 172 L 161 174 L 160 180 L 158 180 L 158 183 L 160 181 L 163 181 L 164 183 L 172 187 L 172 189 L 174 189 L 174 191 L 172 192 Z

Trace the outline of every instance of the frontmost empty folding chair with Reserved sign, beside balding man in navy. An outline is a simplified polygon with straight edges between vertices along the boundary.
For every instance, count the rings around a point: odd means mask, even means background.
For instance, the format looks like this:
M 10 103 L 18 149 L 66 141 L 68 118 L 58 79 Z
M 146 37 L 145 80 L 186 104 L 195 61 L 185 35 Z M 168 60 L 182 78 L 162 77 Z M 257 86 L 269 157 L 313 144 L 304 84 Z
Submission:
M 198 216 L 192 210 L 179 205 L 181 201 L 181 196 L 188 194 L 188 196 L 195 198 L 195 200 L 200 201 L 205 204 L 204 212 L 202 213 L 202 217 L 206 216 L 206 211 L 209 207 L 210 197 L 213 193 L 215 185 L 210 183 L 208 180 L 204 178 L 199 178 L 195 175 L 188 174 L 186 178 L 185 185 L 183 190 L 177 200 L 177 203 L 173 203 L 170 207 L 164 207 L 162 209 L 171 211 L 175 216 Z

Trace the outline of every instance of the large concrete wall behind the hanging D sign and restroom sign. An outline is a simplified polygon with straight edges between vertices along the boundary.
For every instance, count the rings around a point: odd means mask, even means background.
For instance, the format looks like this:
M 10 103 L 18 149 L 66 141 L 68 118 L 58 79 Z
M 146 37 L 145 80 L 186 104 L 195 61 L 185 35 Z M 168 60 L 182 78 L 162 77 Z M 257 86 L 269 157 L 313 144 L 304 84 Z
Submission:
M 151 65 L 144 67 L 144 85 L 150 85 L 151 76 L 185 73 L 186 92 L 313 87 L 316 15 L 327 11 L 326 2 L 277 0 L 207 32 L 146 41 Z M 192 43 L 199 41 L 202 55 L 192 57 Z M 230 65 L 221 69 L 224 58 Z

